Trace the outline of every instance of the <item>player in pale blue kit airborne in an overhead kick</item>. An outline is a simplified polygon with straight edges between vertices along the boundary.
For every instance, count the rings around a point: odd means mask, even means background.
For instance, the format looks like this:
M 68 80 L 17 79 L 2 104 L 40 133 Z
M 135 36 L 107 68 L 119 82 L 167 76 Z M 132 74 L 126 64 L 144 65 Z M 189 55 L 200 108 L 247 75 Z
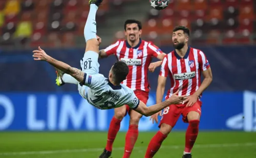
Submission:
M 98 109 L 113 109 L 127 104 L 138 113 L 151 116 L 170 104 L 178 104 L 185 100 L 185 96 L 177 96 L 177 92 L 166 101 L 154 106 L 146 107 L 143 102 L 134 94 L 133 90 L 120 84 L 129 73 L 128 66 L 121 61 L 116 62 L 105 78 L 99 73 L 98 52 L 99 41 L 96 37 L 96 11 L 102 0 L 91 0 L 90 12 L 84 27 L 84 37 L 86 38 L 86 53 L 81 60 L 81 69 L 69 66 L 66 63 L 57 61 L 46 54 L 38 47 L 34 50 L 34 60 L 47 61 L 58 70 L 58 80 L 61 82 L 61 74 L 70 75 L 73 84 L 78 85 L 79 94 L 87 99 L 92 106 Z M 63 73 L 61 73 L 63 71 Z

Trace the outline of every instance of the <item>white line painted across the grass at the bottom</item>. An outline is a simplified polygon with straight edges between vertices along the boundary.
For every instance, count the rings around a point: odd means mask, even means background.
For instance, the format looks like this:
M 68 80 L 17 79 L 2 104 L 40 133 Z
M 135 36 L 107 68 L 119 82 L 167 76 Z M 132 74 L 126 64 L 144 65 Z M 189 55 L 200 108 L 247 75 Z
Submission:
M 240 146 L 256 146 L 256 143 L 233 143 L 233 144 L 199 144 L 194 148 L 220 148 L 220 147 L 240 147 Z M 134 150 L 147 148 L 145 146 L 134 147 Z M 180 149 L 184 145 L 161 146 L 165 149 Z M 123 147 L 113 148 L 113 150 L 123 150 Z M 70 150 L 48 150 L 48 151 L 24 151 L 24 152 L 3 152 L 0 155 L 31 155 L 31 154 L 54 154 L 54 153 L 73 153 L 73 152 L 98 152 L 103 151 L 103 148 L 89 148 L 89 149 L 70 149 Z

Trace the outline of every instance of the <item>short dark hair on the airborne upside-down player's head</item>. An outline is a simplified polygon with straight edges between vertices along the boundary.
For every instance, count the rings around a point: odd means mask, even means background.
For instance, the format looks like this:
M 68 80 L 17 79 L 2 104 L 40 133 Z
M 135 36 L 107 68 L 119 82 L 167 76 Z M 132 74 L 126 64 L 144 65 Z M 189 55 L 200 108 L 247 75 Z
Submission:
M 112 67 L 112 73 L 114 75 L 114 81 L 121 83 L 129 73 L 129 67 L 124 62 L 117 61 Z

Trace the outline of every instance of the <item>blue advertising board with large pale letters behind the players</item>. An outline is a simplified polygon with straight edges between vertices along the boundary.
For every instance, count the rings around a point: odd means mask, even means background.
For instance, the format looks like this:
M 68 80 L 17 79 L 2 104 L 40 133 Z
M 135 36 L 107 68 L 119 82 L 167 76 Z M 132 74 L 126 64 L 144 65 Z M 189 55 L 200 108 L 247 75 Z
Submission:
M 147 105 L 155 103 L 150 93 Z M 201 130 L 256 131 L 256 93 L 205 92 L 202 97 Z M 114 110 L 98 110 L 78 93 L 2 93 L 0 130 L 108 130 Z M 127 130 L 126 116 L 120 130 Z M 186 129 L 180 119 L 175 130 Z M 158 130 L 150 117 L 139 124 L 140 131 Z

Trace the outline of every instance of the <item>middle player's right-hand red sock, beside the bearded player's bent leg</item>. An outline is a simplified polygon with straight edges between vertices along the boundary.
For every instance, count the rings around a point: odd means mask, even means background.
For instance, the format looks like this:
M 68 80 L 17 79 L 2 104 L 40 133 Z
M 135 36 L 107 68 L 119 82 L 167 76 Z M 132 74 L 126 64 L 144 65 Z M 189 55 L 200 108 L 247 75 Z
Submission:
M 138 125 L 130 125 L 125 137 L 125 147 L 123 158 L 130 157 L 135 142 L 137 141 L 139 135 Z

